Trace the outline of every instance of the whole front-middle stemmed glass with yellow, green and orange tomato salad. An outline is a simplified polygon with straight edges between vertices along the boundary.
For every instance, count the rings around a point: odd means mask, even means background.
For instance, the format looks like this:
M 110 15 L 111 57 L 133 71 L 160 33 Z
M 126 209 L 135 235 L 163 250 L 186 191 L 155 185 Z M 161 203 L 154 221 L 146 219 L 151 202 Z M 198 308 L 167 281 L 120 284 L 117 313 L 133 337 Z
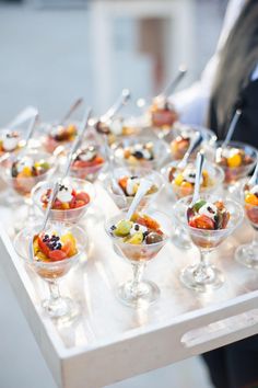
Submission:
M 112 241 L 130 262 L 133 278 L 122 284 L 117 292 L 119 299 L 130 307 L 148 306 L 160 295 L 159 287 L 142 281 L 146 262 L 154 259 L 169 238 L 171 220 L 156 210 L 133 214 L 126 218 L 124 212 L 107 220 L 105 229 Z

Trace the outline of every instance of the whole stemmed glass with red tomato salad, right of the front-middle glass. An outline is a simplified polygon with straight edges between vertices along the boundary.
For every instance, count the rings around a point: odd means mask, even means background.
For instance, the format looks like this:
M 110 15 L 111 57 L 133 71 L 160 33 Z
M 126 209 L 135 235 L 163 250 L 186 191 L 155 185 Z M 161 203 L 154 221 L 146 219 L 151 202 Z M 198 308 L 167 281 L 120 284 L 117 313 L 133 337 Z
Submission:
M 200 262 L 183 270 L 180 279 L 188 288 L 209 292 L 224 283 L 220 270 L 209 262 L 209 253 L 216 249 L 243 220 L 241 204 L 233 199 L 220 199 L 215 195 L 201 194 L 191 203 L 185 197 L 175 207 L 178 219 L 186 226 L 192 242 L 200 250 Z

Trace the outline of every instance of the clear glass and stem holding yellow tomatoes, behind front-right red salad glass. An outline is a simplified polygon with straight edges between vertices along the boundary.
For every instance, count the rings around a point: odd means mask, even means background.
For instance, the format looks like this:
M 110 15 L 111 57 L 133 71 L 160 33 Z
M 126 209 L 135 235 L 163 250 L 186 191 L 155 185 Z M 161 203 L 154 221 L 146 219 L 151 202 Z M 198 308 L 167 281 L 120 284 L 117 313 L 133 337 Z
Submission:
M 195 185 L 186 185 L 186 186 L 179 186 L 175 183 L 169 182 L 169 171 L 172 168 L 176 168 L 178 164 L 178 161 L 173 161 L 165 166 L 162 169 L 162 174 L 167 183 L 167 189 L 171 191 L 173 197 L 175 199 L 180 199 L 183 197 L 186 197 L 188 195 L 194 194 L 194 189 Z M 191 166 L 188 163 L 188 166 Z M 223 170 L 218 167 L 215 163 L 210 163 L 210 162 L 204 162 L 203 170 L 208 172 L 208 175 L 210 176 L 211 180 L 211 185 L 208 186 L 201 186 L 200 192 L 201 193 L 212 193 L 215 192 L 218 189 L 220 189 L 223 180 L 224 180 L 224 172 Z M 190 249 L 192 247 L 191 240 L 186 231 L 186 228 L 181 224 L 180 219 L 177 217 L 177 203 L 173 206 L 173 213 L 175 215 L 175 222 L 176 222 L 176 228 L 175 232 L 173 235 L 173 243 L 180 248 L 180 249 Z

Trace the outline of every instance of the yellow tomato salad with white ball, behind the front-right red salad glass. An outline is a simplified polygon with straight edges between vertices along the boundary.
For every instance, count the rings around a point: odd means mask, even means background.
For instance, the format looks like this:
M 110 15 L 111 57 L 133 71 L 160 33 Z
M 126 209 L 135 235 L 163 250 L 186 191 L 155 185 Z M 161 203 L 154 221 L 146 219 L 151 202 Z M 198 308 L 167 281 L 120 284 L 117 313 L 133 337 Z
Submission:
M 173 185 L 173 191 L 178 197 L 187 196 L 194 193 L 196 182 L 196 168 L 189 163 L 181 170 L 176 166 L 168 169 L 168 182 Z M 200 182 L 201 190 L 212 187 L 215 184 L 208 170 L 202 171 Z

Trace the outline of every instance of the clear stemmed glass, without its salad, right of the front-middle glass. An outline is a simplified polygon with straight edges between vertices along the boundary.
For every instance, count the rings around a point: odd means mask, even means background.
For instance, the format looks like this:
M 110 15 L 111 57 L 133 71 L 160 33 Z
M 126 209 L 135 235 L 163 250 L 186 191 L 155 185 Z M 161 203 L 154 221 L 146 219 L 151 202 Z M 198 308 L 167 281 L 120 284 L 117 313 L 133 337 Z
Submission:
M 223 203 L 225 208 L 230 212 L 231 217 L 225 229 L 208 230 L 194 228 L 188 225 L 186 216 L 191 198 L 191 196 L 188 196 L 179 199 L 175 210 L 192 242 L 200 251 L 200 262 L 184 269 L 180 274 L 180 281 L 187 288 L 195 289 L 199 293 L 206 293 L 220 288 L 224 283 L 223 273 L 210 263 L 209 254 L 215 251 L 216 247 L 233 233 L 233 231 L 241 225 L 244 215 L 241 204 L 226 198 Z M 218 201 L 218 196 L 211 194 L 202 194 L 201 198 L 212 203 Z

